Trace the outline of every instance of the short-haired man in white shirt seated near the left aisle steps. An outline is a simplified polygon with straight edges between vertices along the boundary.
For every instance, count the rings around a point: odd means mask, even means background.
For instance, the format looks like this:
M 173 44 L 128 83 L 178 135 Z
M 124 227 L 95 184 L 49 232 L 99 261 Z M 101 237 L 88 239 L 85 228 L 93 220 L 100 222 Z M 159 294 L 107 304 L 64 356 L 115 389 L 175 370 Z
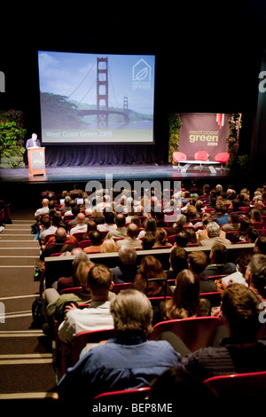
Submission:
M 86 289 L 90 290 L 91 303 L 88 308 L 77 309 L 74 304 L 66 307 L 66 319 L 59 326 L 59 339 L 71 343 L 75 334 L 83 331 L 113 328 L 110 313 L 109 291 L 113 287 L 113 276 L 104 264 L 90 268 Z

